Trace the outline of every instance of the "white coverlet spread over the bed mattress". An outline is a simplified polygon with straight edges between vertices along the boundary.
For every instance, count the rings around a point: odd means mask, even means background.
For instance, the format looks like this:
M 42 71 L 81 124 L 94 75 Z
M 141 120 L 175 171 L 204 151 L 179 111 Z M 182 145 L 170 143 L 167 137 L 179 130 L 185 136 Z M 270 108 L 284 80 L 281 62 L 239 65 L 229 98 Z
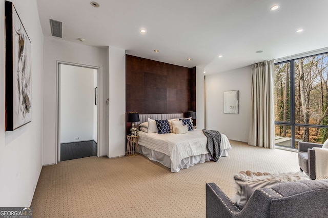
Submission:
M 197 129 L 186 134 L 158 134 L 139 131 L 138 143 L 140 146 L 168 155 L 171 159 L 171 170 L 177 169 L 182 159 L 209 153 L 206 149 L 207 137 L 202 130 Z M 227 136 L 221 134 L 221 153 L 222 150 L 229 151 L 230 149 Z

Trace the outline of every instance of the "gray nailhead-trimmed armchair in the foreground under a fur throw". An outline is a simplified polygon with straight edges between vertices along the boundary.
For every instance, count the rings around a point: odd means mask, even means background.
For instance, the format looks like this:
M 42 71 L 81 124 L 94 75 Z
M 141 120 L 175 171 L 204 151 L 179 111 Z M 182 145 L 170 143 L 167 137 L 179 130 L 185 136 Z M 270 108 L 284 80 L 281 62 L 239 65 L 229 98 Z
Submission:
M 206 217 L 327 217 L 328 180 L 279 183 L 254 191 L 238 208 L 214 183 L 206 184 Z

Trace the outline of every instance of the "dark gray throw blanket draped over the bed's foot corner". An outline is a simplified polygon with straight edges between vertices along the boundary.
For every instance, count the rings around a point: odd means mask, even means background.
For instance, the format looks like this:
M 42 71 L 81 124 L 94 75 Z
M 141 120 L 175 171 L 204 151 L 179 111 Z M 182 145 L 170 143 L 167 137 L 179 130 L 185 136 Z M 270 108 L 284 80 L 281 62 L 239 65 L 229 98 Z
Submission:
M 218 161 L 221 155 L 221 133 L 216 130 L 203 129 L 207 137 L 206 149 L 210 153 L 214 162 Z

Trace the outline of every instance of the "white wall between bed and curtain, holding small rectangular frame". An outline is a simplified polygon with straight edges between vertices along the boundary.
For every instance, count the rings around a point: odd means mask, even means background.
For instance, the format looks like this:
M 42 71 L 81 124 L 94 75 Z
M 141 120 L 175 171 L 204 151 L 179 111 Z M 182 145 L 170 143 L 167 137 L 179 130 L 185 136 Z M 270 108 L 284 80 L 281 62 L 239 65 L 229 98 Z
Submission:
M 206 76 L 207 129 L 218 130 L 229 139 L 248 142 L 251 87 L 251 66 Z M 223 92 L 230 90 L 239 90 L 239 114 L 223 113 Z

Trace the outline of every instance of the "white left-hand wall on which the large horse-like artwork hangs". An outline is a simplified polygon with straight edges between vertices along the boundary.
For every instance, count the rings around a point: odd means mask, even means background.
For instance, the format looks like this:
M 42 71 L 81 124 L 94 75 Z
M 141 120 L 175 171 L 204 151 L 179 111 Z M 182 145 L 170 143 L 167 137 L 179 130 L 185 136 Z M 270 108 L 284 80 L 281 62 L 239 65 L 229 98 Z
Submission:
M 43 33 L 36 0 L 12 0 L 32 43 L 32 122 L 5 133 L 5 3 L 0 4 L 0 207 L 30 206 L 42 168 Z

